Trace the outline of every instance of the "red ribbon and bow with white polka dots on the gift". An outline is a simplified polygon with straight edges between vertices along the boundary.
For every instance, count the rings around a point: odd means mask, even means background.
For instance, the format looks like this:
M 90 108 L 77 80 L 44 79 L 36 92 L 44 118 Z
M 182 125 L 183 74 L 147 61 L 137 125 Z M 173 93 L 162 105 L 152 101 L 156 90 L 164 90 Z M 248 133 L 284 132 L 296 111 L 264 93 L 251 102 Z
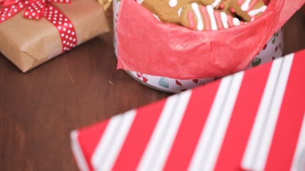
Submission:
M 71 0 L 0 0 L 0 24 L 23 9 L 29 19 L 48 19 L 59 31 L 63 52 L 77 44 L 77 36 L 71 20 L 51 2 L 71 3 Z

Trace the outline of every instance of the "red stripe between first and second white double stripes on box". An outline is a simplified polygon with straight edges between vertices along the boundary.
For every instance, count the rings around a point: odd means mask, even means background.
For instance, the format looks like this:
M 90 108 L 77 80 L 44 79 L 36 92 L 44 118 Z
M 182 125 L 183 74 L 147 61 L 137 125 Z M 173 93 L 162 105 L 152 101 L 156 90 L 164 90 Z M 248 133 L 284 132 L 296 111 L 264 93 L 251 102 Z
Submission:
M 126 140 L 112 170 L 136 170 L 166 100 L 137 109 Z

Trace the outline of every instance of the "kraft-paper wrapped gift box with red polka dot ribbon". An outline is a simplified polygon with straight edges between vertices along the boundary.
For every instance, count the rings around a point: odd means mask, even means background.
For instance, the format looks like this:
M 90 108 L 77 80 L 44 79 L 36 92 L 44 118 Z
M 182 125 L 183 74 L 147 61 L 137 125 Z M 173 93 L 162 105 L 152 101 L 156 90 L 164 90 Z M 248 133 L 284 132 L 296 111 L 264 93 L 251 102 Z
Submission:
M 104 8 L 96 0 L 67 2 L 4 0 L 0 52 L 26 72 L 109 30 Z

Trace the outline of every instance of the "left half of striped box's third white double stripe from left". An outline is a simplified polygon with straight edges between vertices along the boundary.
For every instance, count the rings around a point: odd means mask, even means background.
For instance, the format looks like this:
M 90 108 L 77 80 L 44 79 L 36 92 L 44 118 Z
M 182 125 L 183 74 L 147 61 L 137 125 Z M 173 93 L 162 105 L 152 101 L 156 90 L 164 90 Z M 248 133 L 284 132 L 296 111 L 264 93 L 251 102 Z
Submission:
M 226 76 L 221 79 L 219 88 L 217 90 L 216 97 L 214 99 L 213 105 L 211 107 L 210 113 L 208 115 L 206 124 L 204 129 L 201 132 L 198 144 L 196 146 L 193 158 L 191 160 L 190 166 L 188 170 L 195 171 L 200 168 L 203 163 L 203 158 L 206 155 L 207 148 L 209 148 L 211 141 L 211 137 L 214 133 L 214 126 L 217 124 L 219 113 L 221 111 L 223 102 L 225 101 L 225 97 L 227 91 L 229 89 L 229 85 L 232 81 L 232 76 Z M 201 169 L 199 169 L 201 170 Z

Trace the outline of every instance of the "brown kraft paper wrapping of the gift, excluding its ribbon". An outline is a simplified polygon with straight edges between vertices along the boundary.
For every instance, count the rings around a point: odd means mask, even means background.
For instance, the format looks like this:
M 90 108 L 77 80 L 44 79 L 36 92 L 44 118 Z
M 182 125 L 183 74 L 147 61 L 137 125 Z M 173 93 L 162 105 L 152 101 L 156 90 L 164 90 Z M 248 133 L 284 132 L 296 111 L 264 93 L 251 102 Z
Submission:
M 52 3 L 73 23 L 77 45 L 109 31 L 105 11 L 96 0 Z M 0 52 L 23 72 L 63 53 L 57 28 L 46 18 L 23 17 L 24 10 L 0 24 Z

